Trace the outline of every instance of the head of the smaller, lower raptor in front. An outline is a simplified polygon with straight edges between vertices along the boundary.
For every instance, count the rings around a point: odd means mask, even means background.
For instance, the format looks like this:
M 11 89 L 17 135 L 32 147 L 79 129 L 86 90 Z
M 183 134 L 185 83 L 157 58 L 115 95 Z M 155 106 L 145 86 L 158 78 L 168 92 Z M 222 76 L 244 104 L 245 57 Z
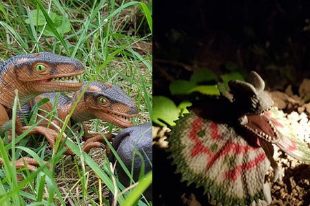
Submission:
M 86 85 L 87 82 L 84 82 L 80 91 Z M 79 92 L 76 93 L 78 94 Z M 132 126 L 131 118 L 138 115 L 136 103 L 120 87 L 110 83 L 91 82 L 79 104 L 87 108 L 84 118 L 98 118 L 122 128 Z M 79 119 L 79 121 L 87 119 Z

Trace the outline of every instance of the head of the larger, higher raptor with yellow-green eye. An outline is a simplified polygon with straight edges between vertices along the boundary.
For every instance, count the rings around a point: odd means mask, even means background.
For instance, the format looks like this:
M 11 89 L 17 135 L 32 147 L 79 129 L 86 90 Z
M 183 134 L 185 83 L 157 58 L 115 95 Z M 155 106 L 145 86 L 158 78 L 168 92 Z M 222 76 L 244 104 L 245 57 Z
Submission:
M 77 91 L 81 88 L 82 63 L 49 52 L 30 54 L 15 63 L 17 80 L 32 84 L 33 91 Z

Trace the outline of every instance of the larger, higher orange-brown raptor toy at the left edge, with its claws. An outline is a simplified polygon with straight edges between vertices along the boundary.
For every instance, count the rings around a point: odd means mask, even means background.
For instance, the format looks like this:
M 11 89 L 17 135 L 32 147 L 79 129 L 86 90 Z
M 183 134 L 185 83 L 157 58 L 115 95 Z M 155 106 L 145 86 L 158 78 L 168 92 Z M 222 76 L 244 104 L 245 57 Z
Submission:
M 79 60 L 49 52 L 13 56 L 0 65 L 0 126 L 11 118 L 14 91 L 18 90 L 21 105 L 35 96 L 52 91 L 77 91 L 81 88 L 81 75 L 85 72 Z M 17 118 L 18 135 L 28 127 L 22 127 Z M 48 139 L 58 135 L 53 130 L 35 127 L 31 133 L 45 135 Z M 37 161 L 25 158 L 26 166 L 32 170 Z M 34 163 L 35 162 L 35 163 Z M 23 161 L 17 161 L 18 168 Z M 3 164 L 0 161 L 0 164 Z

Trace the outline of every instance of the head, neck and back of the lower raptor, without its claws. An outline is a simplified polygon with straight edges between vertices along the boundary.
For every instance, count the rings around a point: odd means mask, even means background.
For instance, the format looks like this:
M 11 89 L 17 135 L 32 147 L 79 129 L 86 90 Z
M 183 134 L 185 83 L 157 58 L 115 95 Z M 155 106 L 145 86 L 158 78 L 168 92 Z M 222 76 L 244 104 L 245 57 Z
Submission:
M 79 104 L 76 106 L 74 113 L 72 113 L 72 120 L 75 122 L 85 122 L 90 119 L 101 119 L 103 122 L 109 122 L 121 128 L 132 126 L 132 122 L 127 122 L 127 124 L 126 122 L 120 122 L 117 118 L 105 115 L 104 111 L 110 111 L 115 115 L 123 116 L 124 119 L 126 117 L 135 117 L 138 115 L 136 102 L 134 102 L 120 87 L 117 87 L 114 84 L 104 84 L 103 82 L 96 81 L 92 81 L 89 85 L 88 84 L 88 82 L 83 82 L 83 86 L 79 91 L 74 93 L 73 98 L 70 98 L 63 93 L 60 95 L 57 93 L 43 93 L 40 96 L 41 98 L 50 99 L 50 101 L 53 102 L 52 104 L 54 104 L 57 95 L 59 95 L 59 98 L 57 99 L 57 110 L 59 113 L 65 113 L 65 115 L 63 115 L 63 117 L 65 117 L 70 113 L 81 92 L 85 87 L 88 87 L 79 101 Z M 94 91 L 91 88 L 96 88 L 97 91 Z M 87 104 L 87 98 L 91 99 L 92 104 Z M 105 98 L 108 100 L 109 104 L 106 108 L 101 106 L 102 103 L 99 102 L 99 98 Z M 35 104 L 36 101 L 37 100 L 32 100 L 32 104 Z M 23 125 L 25 125 L 25 122 L 23 121 L 22 115 L 27 121 L 29 121 L 31 110 L 32 106 L 30 104 L 25 104 L 21 107 L 22 114 L 21 111 L 18 111 L 17 115 L 20 117 Z M 62 120 L 64 121 L 65 119 Z

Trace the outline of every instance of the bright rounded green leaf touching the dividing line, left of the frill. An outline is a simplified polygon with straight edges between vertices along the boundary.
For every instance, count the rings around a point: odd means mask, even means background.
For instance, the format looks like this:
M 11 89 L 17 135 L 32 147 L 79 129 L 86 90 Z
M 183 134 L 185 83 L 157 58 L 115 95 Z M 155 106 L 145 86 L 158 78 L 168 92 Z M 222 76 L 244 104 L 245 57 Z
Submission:
M 175 126 L 178 120 L 178 108 L 169 98 L 164 96 L 153 97 L 153 122 L 159 126 Z M 164 123 L 165 122 L 165 123 Z

